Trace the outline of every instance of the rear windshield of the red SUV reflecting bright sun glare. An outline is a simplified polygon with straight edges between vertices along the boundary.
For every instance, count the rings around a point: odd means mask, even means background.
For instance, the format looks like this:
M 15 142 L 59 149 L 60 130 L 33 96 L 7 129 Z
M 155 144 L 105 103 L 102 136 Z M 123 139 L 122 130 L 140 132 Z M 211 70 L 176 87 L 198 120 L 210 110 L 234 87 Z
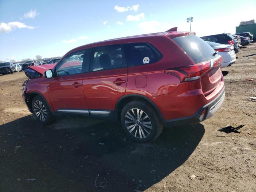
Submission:
M 218 56 L 218 54 L 212 56 L 215 50 L 198 36 L 181 36 L 173 38 L 172 40 L 174 40 L 195 63 L 211 60 Z

